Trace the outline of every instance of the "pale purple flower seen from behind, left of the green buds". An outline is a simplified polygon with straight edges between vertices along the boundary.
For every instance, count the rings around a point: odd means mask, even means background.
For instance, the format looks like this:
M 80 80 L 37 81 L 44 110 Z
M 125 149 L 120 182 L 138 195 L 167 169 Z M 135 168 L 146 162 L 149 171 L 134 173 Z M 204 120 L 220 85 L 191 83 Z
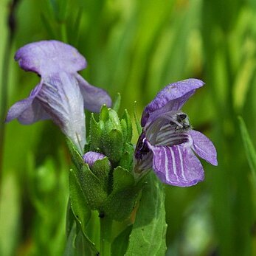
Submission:
M 74 47 L 60 41 L 27 44 L 15 54 L 19 66 L 37 73 L 41 80 L 30 96 L 15 103 L 6 121 L 17 118 L 24 125 L 52 119 L 77 145 L 80 152 L 86 143 L 84 108 L 100 111 L 111 98 L 91 86 L 77 72 L 86 68 L 86 59 Z

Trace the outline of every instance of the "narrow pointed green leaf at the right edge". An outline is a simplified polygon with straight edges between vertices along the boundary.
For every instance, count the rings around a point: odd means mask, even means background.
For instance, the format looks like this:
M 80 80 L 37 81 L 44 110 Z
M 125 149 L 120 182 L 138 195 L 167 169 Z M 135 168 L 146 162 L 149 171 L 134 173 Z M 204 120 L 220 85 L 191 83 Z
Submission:
M 238 117 L 238 120 L 240 122 L 240 129 L 241 129 L 241 136 L 243 139 L 243 147 L 246 151 L 246 157 L 249 162 L 249 166 L 252 169 L 252 174 L 255 176 L 256 181 L 256 151 L 252 144 L 252 140 L 250 139 L 249 133 L 246 128 L 246 124 L 243 121 L 242 117 Z

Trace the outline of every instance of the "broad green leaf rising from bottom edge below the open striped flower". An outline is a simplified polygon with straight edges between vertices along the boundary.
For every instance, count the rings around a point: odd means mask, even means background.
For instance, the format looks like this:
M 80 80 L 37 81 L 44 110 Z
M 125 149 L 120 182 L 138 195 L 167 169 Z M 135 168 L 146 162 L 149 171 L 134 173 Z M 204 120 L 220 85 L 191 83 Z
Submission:
M 147 181 L 142 190 L 127 256 L 165 255 L 165 191 L 154 173 L 148 175 Z

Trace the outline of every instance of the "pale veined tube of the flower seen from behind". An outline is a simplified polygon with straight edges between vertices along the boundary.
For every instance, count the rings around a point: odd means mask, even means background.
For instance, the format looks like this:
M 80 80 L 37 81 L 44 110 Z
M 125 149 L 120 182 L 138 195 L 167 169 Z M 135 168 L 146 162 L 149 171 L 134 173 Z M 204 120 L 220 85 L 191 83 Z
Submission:
M 44 110 L 80 152 L 86 143 L 83 97 L 74 76 L 61 72 L 43 81 L 37 95 Z

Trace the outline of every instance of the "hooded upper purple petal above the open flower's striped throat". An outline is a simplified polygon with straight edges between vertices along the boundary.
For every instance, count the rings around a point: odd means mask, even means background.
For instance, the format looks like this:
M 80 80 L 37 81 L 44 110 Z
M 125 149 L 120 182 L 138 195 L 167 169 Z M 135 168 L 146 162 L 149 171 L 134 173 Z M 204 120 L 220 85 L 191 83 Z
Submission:
M 161 114 L 181 109 L 182 105 L 201 86 L 204 86 L 204 82 L 194 78 L 170 83 L 159 91 L 151 103 L 145 107 L 142 114 L 142 127 L 146 125 L 146 122 L 153 122 Z

